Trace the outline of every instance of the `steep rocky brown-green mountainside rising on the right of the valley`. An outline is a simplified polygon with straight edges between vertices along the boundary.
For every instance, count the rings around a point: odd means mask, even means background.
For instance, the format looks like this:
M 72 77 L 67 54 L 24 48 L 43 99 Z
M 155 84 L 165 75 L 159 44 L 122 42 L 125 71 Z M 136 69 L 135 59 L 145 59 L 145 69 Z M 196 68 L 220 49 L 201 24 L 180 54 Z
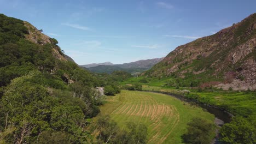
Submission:
M 231 27 L 178 46 L 142 75 L 173 77 L 184 86 L 256 89 L 256 14 Z

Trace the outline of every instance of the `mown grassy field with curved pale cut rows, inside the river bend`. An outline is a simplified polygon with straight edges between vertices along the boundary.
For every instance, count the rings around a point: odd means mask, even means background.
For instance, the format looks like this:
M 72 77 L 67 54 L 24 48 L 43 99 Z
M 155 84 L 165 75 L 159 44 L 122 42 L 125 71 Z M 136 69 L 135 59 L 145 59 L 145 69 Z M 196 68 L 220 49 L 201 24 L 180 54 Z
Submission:
M 110 115 L 121 128 L 127 122 L 143 123 L 148 127 L 148 143 L 182 143 L 181 135 L 193 117 L 214 121 L 214 116 L 168 95 L 121 91 L 107 97 L 101 115 Z M 96 117 L 97 118 L 97 117 Z

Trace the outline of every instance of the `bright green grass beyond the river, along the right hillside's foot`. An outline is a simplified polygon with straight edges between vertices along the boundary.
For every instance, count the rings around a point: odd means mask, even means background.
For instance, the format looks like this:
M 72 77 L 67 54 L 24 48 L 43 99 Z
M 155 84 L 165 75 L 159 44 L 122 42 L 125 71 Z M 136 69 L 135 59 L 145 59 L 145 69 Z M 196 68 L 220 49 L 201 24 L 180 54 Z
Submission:
M 133 77 L 122 84 L 132 84 L 144 79 L 143 77 Z M 198 92 L 197 88 L 191 89 L 190 87 L 176 87 L 166 86 L 166 83 L 170 81 L 171 77 L 147 78 L 148 83 L 141 83 L 143 90 L 146 91 L 164 91 L 170 93 L 183 94 L 186 97 L 197 99 L 202 103 L 211 104 L 225 109 L 233 115 L 249 116 L 256 115 L 256 92 L 248 91 L 223 91 L 220 89 L 202 89 L 202 92 Z M 183 93 L 182 89 L 188 89 L 190 93 Z

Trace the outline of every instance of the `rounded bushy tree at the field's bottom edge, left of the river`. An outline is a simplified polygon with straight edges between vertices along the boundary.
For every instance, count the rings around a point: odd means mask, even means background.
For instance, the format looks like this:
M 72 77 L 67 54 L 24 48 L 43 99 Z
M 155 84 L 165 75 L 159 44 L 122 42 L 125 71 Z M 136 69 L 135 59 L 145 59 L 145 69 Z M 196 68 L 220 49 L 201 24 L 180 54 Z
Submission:
M 216 126 L 202 118 L 193 118 L 188 123 L 187 133 L 182 135 L 184 143 L 208 144 L 214 138 Z

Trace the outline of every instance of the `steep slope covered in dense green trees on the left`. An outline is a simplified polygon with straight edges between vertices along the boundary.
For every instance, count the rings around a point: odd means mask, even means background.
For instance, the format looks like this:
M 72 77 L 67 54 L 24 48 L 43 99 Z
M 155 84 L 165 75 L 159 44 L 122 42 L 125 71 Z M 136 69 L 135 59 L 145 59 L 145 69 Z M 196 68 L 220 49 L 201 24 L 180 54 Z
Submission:
M 95 76 L 67 61 L 57 40 L 0 14 L 0 143 L 85 143 L 100 95 Z

